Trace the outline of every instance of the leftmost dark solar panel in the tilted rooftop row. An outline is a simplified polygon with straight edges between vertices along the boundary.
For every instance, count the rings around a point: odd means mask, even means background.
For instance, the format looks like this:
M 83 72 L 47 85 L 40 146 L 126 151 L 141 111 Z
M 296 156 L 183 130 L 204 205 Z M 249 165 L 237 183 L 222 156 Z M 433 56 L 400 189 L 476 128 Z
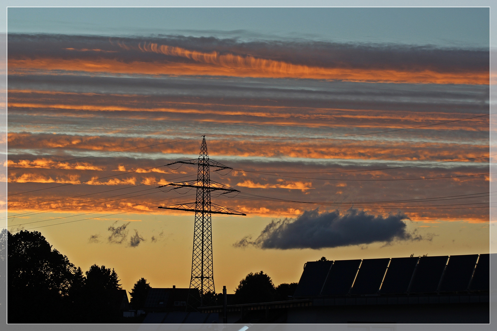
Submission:
M 293 296 L 319 295 L 332 263 L 332 261 L 313 261 L 306 263 Z

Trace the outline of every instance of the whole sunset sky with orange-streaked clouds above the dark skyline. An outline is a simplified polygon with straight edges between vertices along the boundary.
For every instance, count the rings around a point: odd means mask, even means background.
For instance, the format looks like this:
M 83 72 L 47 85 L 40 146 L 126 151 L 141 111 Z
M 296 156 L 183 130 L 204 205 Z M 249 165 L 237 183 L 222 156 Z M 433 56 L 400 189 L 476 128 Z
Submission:
M 209 156 L 214 281 L 489 252 L 488 8 L 9 8 L 8 230 L 123 288 L 188 287 Z M 490 193 L 492 194 L 492 193 Z

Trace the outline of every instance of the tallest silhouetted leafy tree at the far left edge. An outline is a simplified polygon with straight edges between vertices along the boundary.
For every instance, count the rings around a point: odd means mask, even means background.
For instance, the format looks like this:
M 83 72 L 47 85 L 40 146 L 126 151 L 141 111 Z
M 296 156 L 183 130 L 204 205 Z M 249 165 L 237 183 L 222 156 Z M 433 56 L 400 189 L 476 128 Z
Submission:
M 8 322 L 62 322 L 75 266 L 38 231 L 7 236 Z

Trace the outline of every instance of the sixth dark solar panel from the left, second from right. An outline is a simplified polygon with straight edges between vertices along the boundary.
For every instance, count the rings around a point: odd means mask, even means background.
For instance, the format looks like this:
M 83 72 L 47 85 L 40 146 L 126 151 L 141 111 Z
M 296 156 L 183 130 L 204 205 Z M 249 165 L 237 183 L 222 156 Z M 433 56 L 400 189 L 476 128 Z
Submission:
M 475 269 L 478 254 L 451 255 L 442 276 L 439 292 L 466 291 Z

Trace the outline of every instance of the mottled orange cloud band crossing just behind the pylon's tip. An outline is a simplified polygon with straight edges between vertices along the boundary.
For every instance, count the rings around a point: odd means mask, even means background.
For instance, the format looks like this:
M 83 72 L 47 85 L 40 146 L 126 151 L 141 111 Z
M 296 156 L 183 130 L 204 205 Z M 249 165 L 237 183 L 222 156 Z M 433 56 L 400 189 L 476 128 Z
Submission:
M 73 141 L 81 142 L 73 144 Z M 71 149 L 89 150 L 122 150 L 137 146 L 146 146 L 164 142 L 162 139 L 109 137 L 109 136 L 73 136 L 67 134 L 31 134 L 12 132 L 8 134 L 9 147 L 31 146 L 46 148 L 47 146 L 70 147 Z M 482 143 L 482 142 L 481 142 Z M 166 144 L 148 147 L 147 151 L 160 151 L 165 154 L 197 154 L 198 142 L 191 140 L 177 144 Z M 316 159 L 367 159 L 374 160 L 436 160 L 447 161 L 479 157 L 488 153 L 487 144 L 464 144 L 457 142 L 417 142 L 413 150 L 411 141 L 399 140 L 354 140 L 354 139 L 323 139 L 304 140 L 296 142 L 274 141 L 233 141 L 209 140 L 209 152 L 213 156 L 230 155 L 240 157 L 292 157 Z M 434 161 L 434 162 L 436 162 Z M 476 159 L 475 162 L 487 162 L 486 159 Z M 157 164 L 155 164 L 157 165 Z M 133 169 L 141 169 L 132 167 Z M 128 168 L 123 168 L 128 170 Z M 117 169 L 120 171 L 119 169 Z M 184 169 L 181 169 L 181 171 Z M 164 172 L 163 172 L 164 171 Z M 157 173 L 181 173 L 166 168 L 156 168 L 140 171 Z

